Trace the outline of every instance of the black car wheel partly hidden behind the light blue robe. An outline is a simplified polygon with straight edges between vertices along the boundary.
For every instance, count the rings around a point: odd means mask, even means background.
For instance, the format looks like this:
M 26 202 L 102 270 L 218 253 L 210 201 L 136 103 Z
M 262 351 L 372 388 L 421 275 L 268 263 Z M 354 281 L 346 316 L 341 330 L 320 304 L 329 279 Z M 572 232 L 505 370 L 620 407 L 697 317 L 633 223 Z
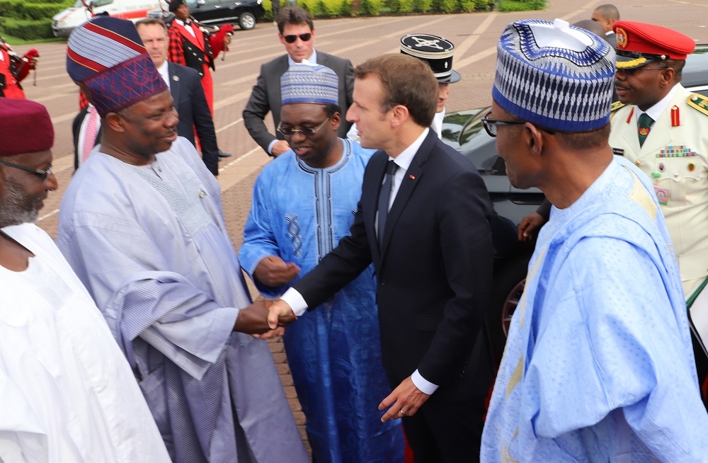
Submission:
M 504 265 L 494 275 L 491 306 L 487 317 L 492 348 L 497 362 L 501 361 L 511 317 L 524 292 L 527 268 L 528 261 L 520 259 Z

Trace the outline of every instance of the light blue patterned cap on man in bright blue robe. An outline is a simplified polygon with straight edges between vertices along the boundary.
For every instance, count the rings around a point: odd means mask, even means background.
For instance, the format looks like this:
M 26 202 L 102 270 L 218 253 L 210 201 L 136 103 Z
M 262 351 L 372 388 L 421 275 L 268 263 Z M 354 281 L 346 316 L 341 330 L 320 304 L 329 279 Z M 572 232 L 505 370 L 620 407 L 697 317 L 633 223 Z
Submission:
M 329 67 L 320 64 L 292 64 L 280 76 L 282 104 L 339 104 L 339 78 Z

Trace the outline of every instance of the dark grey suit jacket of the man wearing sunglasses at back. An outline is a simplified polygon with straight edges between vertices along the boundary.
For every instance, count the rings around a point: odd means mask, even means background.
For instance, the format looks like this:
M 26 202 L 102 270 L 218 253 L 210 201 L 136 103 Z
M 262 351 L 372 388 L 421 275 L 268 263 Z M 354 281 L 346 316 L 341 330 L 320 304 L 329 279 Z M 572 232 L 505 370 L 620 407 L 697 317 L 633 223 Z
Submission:
M 339 105 L 342 110 L 342 124 L 339 126 L 338 135 L 341 138 L 346 138 L 351 123 L 346 122 L 344 116 L 352 104 L 354 67 L 348 59 L 329 55 L 319 50 L 317 50 L 317 64 L 329 67 L 339 77 Z M 273 115 L 273 125 L 278 127 L 278 123 L 280 123 L 280 76 L 287 71 L 289 66 L 287 55 L 282 55 L 263 64 L 261 74 L 258 76 L 256 85 L 253 86 L 249 103 L 244 109 L 243 117 L 246 129 L 266 153 L 268 145 L 276 139 L 276 135 L 278 139 L 283 139 L 280 132 L 275 132 L 275 135 L 268 132 L 263 120 L 270 111 Z

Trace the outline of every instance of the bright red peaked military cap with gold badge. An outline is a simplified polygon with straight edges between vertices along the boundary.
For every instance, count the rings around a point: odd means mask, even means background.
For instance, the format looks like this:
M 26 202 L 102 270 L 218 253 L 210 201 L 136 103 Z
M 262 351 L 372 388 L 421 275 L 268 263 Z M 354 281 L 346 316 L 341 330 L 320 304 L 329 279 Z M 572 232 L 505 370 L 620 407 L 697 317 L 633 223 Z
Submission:
M 634 69 L 663 59 L 686 59 L 696 48 L 692 38 L 661 25 L 615 21 L 617 69 Z

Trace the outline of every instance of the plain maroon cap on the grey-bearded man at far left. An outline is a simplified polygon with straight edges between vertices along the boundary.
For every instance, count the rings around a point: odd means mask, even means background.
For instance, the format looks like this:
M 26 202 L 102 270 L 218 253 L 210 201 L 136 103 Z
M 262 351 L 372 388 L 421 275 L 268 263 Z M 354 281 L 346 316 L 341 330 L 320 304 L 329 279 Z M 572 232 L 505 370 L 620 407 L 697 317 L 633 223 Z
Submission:
M 35 101 L 0 98 L 0 156 L 46 151 L 54 144 L 47 108 Z

